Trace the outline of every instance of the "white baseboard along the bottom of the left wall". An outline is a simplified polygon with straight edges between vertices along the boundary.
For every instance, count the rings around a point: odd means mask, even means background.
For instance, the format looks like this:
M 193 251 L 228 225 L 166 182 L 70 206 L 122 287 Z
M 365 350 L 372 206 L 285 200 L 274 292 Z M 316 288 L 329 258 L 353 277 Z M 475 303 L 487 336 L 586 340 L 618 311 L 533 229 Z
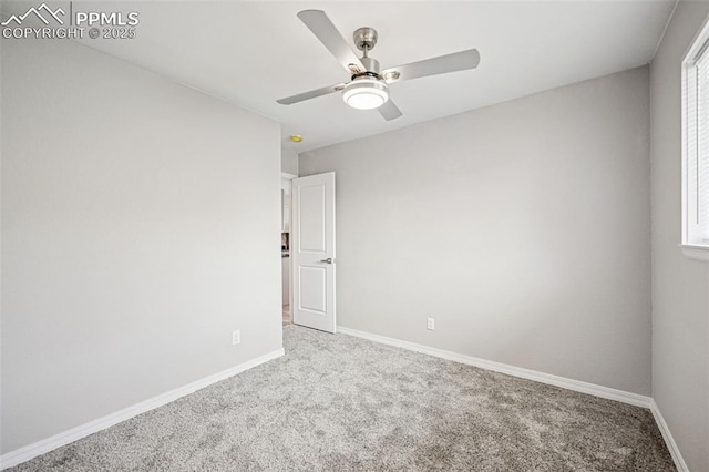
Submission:
M 14 451 L 8 452 L 7 454 L 3 454 L 2 456 L 0 456 L 0 470 L 4 470 L 13 465 L 18 465 L 38 455 L 44 454 L 56 448 L 69 444 L 70 442 L 85 438 L 89 434 L 93 434 L 97 431 L 110 428 L 114 424 L 129 420 L 141 413 L 144 413 L 146 411 L 167 404 L 172 401 L 177 400 L 181 397 L 185 397 L 189 393 L 194 393 L 199 389 L 208 387 L 212 383 L 216 383 L 222 380 L 228 379 L 229 377 L 234 377 L 237 373 L 242 373 L 246 370 L 253 369 L 254 367 L 268 362 L 269 360 L 279 358 L 285 353 L 286 353 L 285 350 L 280 348 L 267 355 L 257 357 L 256 359 L 251 359 L 248 362 L 240 363 L 230 369 L 226 369 L 213 376 L 205 377 L 204 379 L 196 380 L 192 383 L 187 383 L 186 386 L 176 388 L 174 390 L 171 390 L 157 397 L 153 397 L 148 400 L 142 401 L 132 407 L 127 407 L 127 408 L 124 408 L 123 410 L 119 410 L 103 418 L 99 418 L 97 420 L 90 421 L 76 428 L 72 428 L 68 431 L 61 432 L 59 434 L 54 434 L 51 438 L 47 438 L 33 444 L 25 445 L 24 448 L 20 448 Z

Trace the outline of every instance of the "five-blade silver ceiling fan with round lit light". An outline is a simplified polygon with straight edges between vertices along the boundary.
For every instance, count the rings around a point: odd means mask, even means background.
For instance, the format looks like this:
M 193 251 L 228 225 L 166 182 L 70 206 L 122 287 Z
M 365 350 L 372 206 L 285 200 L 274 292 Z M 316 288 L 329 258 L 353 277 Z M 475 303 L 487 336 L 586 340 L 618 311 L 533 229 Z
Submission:
M 354 45 L 362 51 L 362 57 L 358 58 L 323 11 L 304 10 L 298 13 L 298 18 L 335 55 L 338 62 L 351 74 L 351 78 L 349 82 L 323 86 L 277 100 L 282 105 L 290 105 L 316 96 L 342 91 L 342 100 L 351 107 L 359 110 L 378 109 L 384 120 L 395 120 L 401 116 L 401 111 L 389 98 L 390 84 L 402 80 L 475 69 L 480 63 L 477 50 L 469 49 L 453 54 L 439 55 L 438 58 L 381 70 L 379 61 L 369 57 L 369 52 L 377 44 L 378 38 L 377 30 L 373 28 L 364 27 L 354 31 Z

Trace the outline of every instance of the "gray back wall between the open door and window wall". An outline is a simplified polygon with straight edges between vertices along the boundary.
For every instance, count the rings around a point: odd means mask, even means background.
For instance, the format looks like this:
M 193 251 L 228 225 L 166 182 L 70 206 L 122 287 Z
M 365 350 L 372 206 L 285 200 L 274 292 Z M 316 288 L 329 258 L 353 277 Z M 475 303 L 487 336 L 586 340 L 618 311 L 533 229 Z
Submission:
M 339 325 L 649 394 L 648 88 L 640 68 L 302 153 L 337 173 Z

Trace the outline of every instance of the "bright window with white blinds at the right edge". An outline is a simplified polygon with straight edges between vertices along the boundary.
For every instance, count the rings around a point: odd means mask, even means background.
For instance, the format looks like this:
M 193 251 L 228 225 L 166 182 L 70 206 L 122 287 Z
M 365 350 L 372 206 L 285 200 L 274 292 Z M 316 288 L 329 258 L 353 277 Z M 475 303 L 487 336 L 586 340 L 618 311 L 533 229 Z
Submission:
M 682 249 L 709 261 L 709 23 L 682 61 Z

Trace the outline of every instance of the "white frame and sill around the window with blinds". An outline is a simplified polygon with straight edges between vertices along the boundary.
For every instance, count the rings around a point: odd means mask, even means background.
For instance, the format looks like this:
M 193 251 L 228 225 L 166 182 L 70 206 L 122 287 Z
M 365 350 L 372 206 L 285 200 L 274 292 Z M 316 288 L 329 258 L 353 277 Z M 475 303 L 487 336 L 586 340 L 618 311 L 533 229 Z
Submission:
M 692 144 L 692 140 L 697 140 L 697 134 L 700 132 L 697 124 L 699 121 L 697 113 L 699 96 L 696 92 L 699 80 L 697 63 L 705 54 L 709 54 L 709 20 L 705 21 L 681 62 L 682 227 L 679 245 L 686 257 L 709 263 L 709 240 L 706 243 L 697 240 L 698 223 L 691 222 L 691 215 L 696 215 L 698 206 L 702 204 L 698 196 L 699 172 L 696 165 L 699 151 L 695 150 L 697 145 Z M 709 205 L 709 197 L 705 204 Z

